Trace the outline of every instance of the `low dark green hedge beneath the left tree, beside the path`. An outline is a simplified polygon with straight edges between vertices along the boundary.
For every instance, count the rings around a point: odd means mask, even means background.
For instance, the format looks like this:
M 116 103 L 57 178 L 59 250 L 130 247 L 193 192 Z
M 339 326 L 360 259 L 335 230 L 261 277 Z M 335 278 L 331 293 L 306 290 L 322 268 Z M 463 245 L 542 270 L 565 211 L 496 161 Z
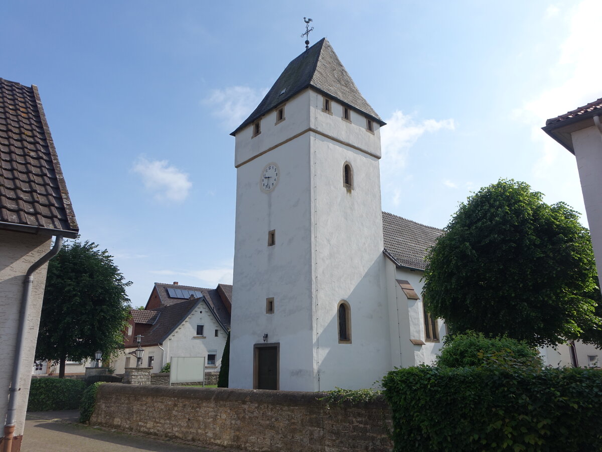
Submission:
M 32 378 L 28 411 L 75 410 L 85 383 L 68 378 Z

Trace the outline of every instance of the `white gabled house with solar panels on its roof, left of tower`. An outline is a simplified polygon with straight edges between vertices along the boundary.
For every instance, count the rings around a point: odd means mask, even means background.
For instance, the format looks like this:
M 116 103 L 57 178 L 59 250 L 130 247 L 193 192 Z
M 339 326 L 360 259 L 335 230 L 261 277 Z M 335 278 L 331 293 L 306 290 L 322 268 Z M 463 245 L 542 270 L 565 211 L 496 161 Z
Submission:
M 140 334 L 142 365 L 152 372 L 159 372 L 174 356 L 203 356 L 206 374 L 215 377 L 230 330 L 231 299 L 232 286 L 228 284 L 205 289 L 177 282 L 155 283 L 144 310 L 131 310 L 125 353 L 113 363 L 116 372 L 136 365 L 130 353 L 138 347 L 136 336 Z

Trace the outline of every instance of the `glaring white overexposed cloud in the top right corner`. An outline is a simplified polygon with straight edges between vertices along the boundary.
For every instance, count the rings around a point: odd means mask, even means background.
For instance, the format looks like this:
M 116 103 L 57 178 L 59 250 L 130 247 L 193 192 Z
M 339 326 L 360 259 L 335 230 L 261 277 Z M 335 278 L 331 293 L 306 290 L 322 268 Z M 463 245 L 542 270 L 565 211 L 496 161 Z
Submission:
M 598 57 L 598 26 L 601 18 L 602 2 L 599 0 L 583 0 L 573 9 L 572 16 L 568 16 L 569 33 L 550 69 L 551 78 L 565 74 L 564 77 L 514 112 L 518 119 L 531 126 L 532 140 L 541 149 L 541 157 L 533 168 L 536 177 L 547 176 L 547 169 L 560 152 L 558 145 L 541 131 L 545 120 L 600 97 L 602 59 Z

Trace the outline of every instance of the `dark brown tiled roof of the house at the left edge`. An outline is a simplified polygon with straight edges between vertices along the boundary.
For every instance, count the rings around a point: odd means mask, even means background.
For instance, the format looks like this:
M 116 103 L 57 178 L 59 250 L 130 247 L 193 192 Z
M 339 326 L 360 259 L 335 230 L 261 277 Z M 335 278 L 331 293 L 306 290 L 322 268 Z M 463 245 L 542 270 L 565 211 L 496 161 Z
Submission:
M 0 228 L 70 238 L 79 231 L 37 87 L 3 78 Z

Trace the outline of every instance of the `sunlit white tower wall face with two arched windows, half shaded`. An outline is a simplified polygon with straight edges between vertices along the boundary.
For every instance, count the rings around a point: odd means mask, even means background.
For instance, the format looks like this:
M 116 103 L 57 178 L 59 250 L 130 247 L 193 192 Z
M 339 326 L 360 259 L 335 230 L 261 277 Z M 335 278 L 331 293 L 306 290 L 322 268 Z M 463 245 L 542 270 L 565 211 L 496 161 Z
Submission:
M 391 369 L 382 212 L 380 131 L 331 99 L 310 95 L 314 391 L 370 388 Z M 352 189 L 344 186 L 344 165 Z M 350 343 L 340 342 L 337 308 L 349 305 Z

